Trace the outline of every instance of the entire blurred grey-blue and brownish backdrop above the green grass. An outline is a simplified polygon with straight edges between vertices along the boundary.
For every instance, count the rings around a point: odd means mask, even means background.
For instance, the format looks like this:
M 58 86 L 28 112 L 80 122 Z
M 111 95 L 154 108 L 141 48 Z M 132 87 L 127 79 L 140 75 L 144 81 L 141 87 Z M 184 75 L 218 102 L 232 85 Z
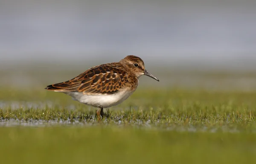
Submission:
M 0 85 L 44 89 L 137 55 L 160 79 L 140 87 L 255 90 L 255 18 L 255 0 L 0 0 Z

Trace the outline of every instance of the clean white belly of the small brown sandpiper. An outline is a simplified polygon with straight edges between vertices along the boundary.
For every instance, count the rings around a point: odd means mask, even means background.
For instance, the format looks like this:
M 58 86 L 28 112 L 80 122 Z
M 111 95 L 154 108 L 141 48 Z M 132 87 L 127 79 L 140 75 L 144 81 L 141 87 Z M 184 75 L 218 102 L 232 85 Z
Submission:
M 123 90 L 112 95 L 84 95 L 82 92 L 69 92 L 66 94 L 72 96 L 76 101 L 81 103 L 95 106 L 108 108 L 125 101 L 133 92 Z

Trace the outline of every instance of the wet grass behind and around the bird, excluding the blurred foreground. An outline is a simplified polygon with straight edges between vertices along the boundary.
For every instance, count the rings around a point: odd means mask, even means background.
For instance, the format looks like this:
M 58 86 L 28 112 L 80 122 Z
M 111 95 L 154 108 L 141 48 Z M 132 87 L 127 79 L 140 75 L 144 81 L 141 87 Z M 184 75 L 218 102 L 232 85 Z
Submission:
M 0 109 L 2 121 L 68 121 L 82 124 L 101 121 L 104 124 L 195 129 L 233 127 L 246 130 L 256 127 L 256 92 L 141 89 L 119 106 L 105 109 L 106 115 L 100 121 L 96 117 L 96 108 L 73 101 L 62 93 L 35 90 L 6 91 L 6 94 L 0 94 L 3 95 L 5 104 L 2 102 Z

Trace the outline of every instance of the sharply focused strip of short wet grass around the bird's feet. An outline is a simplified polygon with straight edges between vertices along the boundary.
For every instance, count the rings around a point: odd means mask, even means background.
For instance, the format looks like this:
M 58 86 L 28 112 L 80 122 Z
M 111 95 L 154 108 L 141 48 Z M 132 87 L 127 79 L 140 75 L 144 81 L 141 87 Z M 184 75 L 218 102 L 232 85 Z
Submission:
M 99 119 L 96 111 L 65 110 L 65 109 L 17 109 L 4 111 L 0 109 L 2 124 L 11 122 L 47 123 L 47 124 L 82 124 L 93 125 L 119 125 L 150 127 L 169 130 L 188 131 L 225 131 L 225 132 L 256 132 L 255 111 L 227 110 L 217 112 L 208 109 L 183 109 L 180 111 L 168 110 L 107 110 L 104 118 Z M 225 111 L 226 110 L 226 111 Z M 12 124 L 10 124 L 12 125 Z

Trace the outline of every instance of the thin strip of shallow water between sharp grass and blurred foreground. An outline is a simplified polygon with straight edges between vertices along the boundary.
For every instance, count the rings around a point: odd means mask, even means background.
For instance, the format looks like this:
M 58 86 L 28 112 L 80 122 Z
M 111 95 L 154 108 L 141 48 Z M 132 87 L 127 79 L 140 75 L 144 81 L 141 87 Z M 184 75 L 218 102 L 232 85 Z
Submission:
M 100 126 L 100 127 L 119 127 L 119 128 L 125 128 L 125 127 L 134 127 L 134 128 L 142 128 L 142 129 L 155 129 L 155 130 L 167 130 L 167 131 L 176 131 L 176 132 L 211 132 L 211 133 L 217 133 L 217 132 L 230 132 L 230 133 L 241 133 L 241 132 L 252 132 L 256 133 L 256 128 L 239 128 L 237 126 L 230 126 L 230 125 L 223 125 L 223 126 L 194 126 L 194 125 L 184 125 L 181 124 L 168 124 L 168 123 L 160 123 L 154 122 L 151 123 L 150 120 L 148 121 L 130 121 L 130 122 L 124 122 L 124 121 L 107 121 L 107 120 L 101 120 L 98 121 L 96 118 L 93 118 L 91 120 L 56 120 L 56 121 L 44 121 L 44 120 L 6 120 L 2 119 L 0 120 L 0 127 L 52 127 L 52 126 L 64 126 L 64 127 L 72 127 L 72 126 L 80 126 L 80 127 L 92 127 L 92 126 Z

